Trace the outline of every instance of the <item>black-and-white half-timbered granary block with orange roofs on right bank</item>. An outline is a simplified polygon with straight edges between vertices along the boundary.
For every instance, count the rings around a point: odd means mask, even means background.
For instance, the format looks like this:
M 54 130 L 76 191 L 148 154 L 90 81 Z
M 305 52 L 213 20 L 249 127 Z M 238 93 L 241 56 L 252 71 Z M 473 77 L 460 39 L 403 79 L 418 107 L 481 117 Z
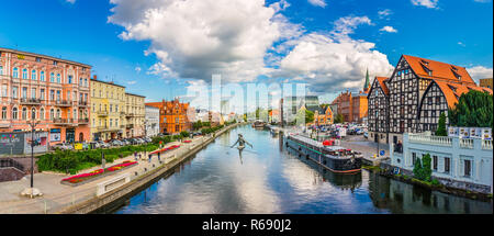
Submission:
M 377 77 L 369 92 L 370 138 L 378 141 L 378 132 L 380 141 L 397 143 L 403 133 L 435 132 L 441 112 L 447 115 L 472 89 L 492 93 L 464 67 L 403 55 L 391 77 Z

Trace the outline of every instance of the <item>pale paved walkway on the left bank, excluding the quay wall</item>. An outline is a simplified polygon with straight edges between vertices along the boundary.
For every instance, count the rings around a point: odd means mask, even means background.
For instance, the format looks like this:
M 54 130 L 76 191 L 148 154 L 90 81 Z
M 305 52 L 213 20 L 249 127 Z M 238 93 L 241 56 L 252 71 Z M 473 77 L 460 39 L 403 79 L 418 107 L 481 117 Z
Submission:
M 34 188 L 40 189 L 43 193 L 43 196 L 36 199 L 29 199 L 20 194 L 22 190 L 30 187 L 31 176 L 25 176 L 23 179 L 18 181 L 0 182 L 0 213 L 54 213 L 61 207 L 94 198 L 98 183 L 110 180 L 123 173 L 133 173 L 131 176 L 136 178 L 135 172 L 141 176 L 146 172 L 144 168 L 149 170 L 151 169 L 153 164 L 156 167 L 167 164 L 175 159 L 173 156 L 178 151 L 187 151 L 190 145 L 195 146 L 202 142 L 202 137 L 195 137 L 189 144 L 173 142 L 165 145 L 165 147 L 169 147 L 180 144 L 181 147 L 162 154 L 162 164 L 158 162 L 156 155 L 153 156 L 153 161 L 148 162 L 147 155 L 142 153 L 143 159 L 138 160 L 138 165 L 78 187 L 70 187 L 60 183 L 60 180 L 67 178 L 68 175 L 52 172 L 35 173 Z M 113 164 L 106 164 L 106 167 L 121 164 L 125 160 L 134 160 L 134 155 L 117 159 Z M 90 172 L 91 170 L 99 168 L 101 168 L 101 166 L 92 167 L 80 172 Z

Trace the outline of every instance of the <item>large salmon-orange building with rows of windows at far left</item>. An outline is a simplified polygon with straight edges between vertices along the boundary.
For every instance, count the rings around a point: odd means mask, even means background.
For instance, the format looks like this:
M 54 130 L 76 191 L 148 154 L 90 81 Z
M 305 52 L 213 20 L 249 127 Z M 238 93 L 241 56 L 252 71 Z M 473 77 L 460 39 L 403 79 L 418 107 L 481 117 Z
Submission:
M 0 48 L 0 133 L 27 132 L 31 121 L 49 145 L 90 138 L 91 66 Z

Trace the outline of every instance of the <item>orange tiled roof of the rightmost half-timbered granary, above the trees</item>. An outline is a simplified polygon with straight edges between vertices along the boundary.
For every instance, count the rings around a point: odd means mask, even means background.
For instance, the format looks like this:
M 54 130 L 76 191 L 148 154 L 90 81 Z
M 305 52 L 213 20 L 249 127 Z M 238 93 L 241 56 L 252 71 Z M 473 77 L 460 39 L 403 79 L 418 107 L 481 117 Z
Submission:
M 437 83 L 439 89 L 446 97 L 446 101 L 448 103 L 448 108 L 453 109 L 458 103 L 458 99 L 461 94 L 469 92 L 470 90 L 476 90 L 481 92 L 489 92 L 492 94 L 492 90 L 489 88 L 478 87 L 469 83 L 458 83 L 451 81 L 445 81 L 435 79 L 430 85 Z

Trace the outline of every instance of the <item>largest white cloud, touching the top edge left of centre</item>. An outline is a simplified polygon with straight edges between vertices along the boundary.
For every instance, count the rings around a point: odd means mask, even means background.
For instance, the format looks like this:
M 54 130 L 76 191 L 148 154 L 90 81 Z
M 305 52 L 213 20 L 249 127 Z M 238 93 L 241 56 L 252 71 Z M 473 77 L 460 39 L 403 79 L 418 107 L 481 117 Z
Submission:
M 290 27 L 277 14 L 285 1 L 263 0 L 111 0 L 109 22 L 125 27 L 123 40 L 150 41 L 147 54 L 159 63 L 150 72 L 211 80 L 249 81 L 269 71 L 263 57 Z

